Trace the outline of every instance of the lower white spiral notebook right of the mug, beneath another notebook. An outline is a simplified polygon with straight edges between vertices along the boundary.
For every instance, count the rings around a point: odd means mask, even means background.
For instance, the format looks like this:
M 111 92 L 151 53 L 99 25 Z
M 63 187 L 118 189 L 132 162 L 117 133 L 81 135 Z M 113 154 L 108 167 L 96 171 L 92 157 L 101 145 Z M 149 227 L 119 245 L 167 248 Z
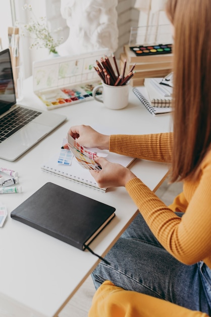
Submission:
M 134 87 L 133 93 L 136 95 L 136 97 L 138 97 L 144 107 L 146 107 L 146 109 L 152 115 L 168 113 L 172 111 L 172 107 L 154 107 L 149 101 L 149 96 L 145 87 Z

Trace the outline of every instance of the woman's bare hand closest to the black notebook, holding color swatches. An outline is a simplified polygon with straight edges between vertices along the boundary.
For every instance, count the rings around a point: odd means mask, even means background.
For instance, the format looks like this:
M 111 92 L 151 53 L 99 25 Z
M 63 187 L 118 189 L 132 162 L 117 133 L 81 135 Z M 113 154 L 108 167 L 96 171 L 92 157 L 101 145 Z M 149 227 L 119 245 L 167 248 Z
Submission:
M 101 166 L 100 171 L 90 171 L 100 188 L 125 186 L 136 177 L 129 169 L 117 163 L 111 163 L 103 157 L 95 157 L 94 161 Z

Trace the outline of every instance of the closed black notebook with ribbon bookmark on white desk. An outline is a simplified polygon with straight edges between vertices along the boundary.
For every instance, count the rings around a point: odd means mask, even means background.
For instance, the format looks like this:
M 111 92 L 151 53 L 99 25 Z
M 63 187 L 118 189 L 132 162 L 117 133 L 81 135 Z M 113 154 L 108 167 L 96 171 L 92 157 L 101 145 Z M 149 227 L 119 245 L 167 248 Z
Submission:
M 11 217 L 84 250 L 114 212 L 114 207 L 48 182 L 14 209 Z

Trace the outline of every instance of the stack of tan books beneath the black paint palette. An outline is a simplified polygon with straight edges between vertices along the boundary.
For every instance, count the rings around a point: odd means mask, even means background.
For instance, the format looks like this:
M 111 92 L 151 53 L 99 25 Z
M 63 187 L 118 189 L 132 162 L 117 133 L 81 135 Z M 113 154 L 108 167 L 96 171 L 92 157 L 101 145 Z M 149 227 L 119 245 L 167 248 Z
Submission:
M 127 61 L 125 72 L 131 69 L 134 63 L 135 73 L 130 80 L 131 86 L 142 86 L 144 78 L 164 77 L 172 71 L 173 54 L 158 54 L 148 56 L 136 56 L 128 45 L 124 46 L 124 53 L 120 54 L 120 71 L 124 68 Z

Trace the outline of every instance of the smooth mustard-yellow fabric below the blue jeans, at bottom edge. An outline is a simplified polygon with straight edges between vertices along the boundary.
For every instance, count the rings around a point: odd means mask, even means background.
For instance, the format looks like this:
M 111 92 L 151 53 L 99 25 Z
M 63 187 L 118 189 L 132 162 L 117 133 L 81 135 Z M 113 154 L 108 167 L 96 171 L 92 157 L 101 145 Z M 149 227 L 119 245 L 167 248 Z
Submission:
M 105 281 L 94 294 L 88 317 L 208 317 L 163 299 L 125 291 Z

